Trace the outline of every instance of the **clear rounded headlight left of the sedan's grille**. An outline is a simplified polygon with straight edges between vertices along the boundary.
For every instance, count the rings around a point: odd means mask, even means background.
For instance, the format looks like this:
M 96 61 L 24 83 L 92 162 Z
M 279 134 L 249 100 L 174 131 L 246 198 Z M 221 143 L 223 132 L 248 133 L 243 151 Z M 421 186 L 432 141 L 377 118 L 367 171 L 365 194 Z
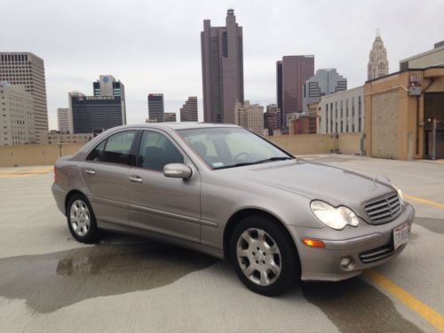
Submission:
M 327 202 L 314 200 L 310 203 L 310 208 L 316 218 L 319 218 L 323 224 L 336 230 L 342 230 L 345 226 L 359 226 L 359 219 L 353 210 L 347 207 L 339 206 L 337 208 L 329 205 Z

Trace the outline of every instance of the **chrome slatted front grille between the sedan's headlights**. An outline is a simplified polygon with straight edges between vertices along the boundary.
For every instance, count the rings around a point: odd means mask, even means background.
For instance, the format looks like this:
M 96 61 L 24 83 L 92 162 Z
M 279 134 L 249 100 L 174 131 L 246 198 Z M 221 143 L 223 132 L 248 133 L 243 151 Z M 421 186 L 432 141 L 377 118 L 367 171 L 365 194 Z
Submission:
M 400 197 L 398 193 L 385 194 L 377 199 L 364 203 L 364 210 L 369 215 L 369 223 L 381 225 L 400 216 Z

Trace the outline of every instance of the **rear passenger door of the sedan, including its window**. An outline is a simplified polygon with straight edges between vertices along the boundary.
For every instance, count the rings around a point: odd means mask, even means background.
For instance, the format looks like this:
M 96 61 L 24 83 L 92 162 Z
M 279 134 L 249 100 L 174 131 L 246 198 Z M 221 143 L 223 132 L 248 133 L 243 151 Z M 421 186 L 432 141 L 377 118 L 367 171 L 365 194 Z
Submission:
M 136 130 L 119 131 L 99 143 L 81 167 L 96 218 L 128 225 L 131 153 Z

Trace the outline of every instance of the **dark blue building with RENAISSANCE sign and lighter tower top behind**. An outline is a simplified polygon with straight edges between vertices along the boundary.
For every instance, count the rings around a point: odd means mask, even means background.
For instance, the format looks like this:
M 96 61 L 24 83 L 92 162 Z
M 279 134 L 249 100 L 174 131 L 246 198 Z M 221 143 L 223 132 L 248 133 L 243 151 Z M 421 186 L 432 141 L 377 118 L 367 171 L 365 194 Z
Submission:
M 69 93 L 69 115 L 74 134 L 94 133 L 126 124 L 124 86 L 112 75 L 100 75 L 92 83 L 93 96 Z

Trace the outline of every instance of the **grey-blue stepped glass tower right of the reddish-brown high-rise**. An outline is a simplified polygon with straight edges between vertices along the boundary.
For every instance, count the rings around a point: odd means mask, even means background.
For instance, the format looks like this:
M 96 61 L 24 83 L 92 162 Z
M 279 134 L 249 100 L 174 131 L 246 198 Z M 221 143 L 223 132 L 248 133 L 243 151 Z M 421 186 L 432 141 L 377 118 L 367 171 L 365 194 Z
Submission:
M 318 69 L 303 86 L 302 112 L 308 112 L 308 104 L 319 102 L 322 96 L 347 90 L 347 79 L 336 68 Z

